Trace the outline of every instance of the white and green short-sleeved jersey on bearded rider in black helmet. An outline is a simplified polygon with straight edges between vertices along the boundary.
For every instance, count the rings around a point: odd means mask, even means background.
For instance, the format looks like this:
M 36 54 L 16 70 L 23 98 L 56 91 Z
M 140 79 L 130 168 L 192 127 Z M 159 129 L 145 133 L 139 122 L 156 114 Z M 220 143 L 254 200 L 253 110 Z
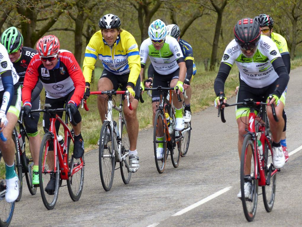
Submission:
M 230 67 L 236 63 L 240 78 L 250 87 L 262 88 L 272 84 L 278 74 L 275 72 L 272 62 L 281 55 L 271 38 L 261 35 L 257 51 L 252 58 L 245 57 L 235 39 L 226 47 L 221 63 Z

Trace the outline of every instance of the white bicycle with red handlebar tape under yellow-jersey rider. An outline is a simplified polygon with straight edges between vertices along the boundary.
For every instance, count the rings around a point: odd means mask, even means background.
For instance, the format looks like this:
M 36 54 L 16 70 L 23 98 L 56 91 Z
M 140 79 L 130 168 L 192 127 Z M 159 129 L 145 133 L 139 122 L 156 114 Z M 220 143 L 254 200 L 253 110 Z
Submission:
M 131 178 L 129 171 L 129 149 L 130 142 L 127 132 L 127 122 L 123 113 L 123 97 L 126 94 L 127 106 L 132 110 L 129 102 L 129 91 L 93 91 L 90 95 L 106 94 L 107 114 L 106 120 L 103 122 L 100 133 L 99 144 L 99 168 L 102 186 L 105 191 L 109 191 L 112 187 L 114 170 L 116 163 L 120 163 L 120 173 L 124 184 L 128 184 Z M 117 107 L 114 103 L 112 95 L 120 94 L 120 103 Z M 118 125 L 113 120 L 112 110 L 118 111 Z M 118 168 L 117 168 L 118 169 Z

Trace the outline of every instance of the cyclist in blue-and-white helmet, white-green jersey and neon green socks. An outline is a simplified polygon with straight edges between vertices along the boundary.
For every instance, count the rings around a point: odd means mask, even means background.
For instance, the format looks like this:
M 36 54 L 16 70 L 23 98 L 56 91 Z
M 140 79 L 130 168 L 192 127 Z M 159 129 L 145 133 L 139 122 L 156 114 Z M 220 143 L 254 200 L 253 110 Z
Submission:
M 144 85 L 150 87 L 153 83 L 153 87 L 178 87 L 178 94 L 183 92 L 183 81 L 186 75 L 186 64 L 184 57 L 179 46 L 179 43 L 175 38 L 167 35 L 167 27 L 165 23 L 159 19 L 153 21 L 148 29 L 149 38 L 143 41 L 140 46 L 140 63 L 141 71 L 140 76 L 143 78 L 143 69 L 146 64 L 147 57 L 151 61 L 154 67 L 153 77 L 148 75 L 148 79 Z M 141 85 L 143 88 L 143 85 Z M 155 112 L 159 102 L 159 92 L 157 90 L 152 91 L 152 109 L 153 109 L 153 122 Z M 182 103 L 178 102 L 177 96 L 173 95 L 173 104 L 175 106 L 175 130 L 181 131 L 184 129 L 184 119 L 182 115 Z M 157 140 L 163 140 L 164 137 L 158 137 Z M 162 146 L 162 147 L 161 147 Z M 163 145 L 159 143 L 157 148 L 157 158 L 162 158 Z

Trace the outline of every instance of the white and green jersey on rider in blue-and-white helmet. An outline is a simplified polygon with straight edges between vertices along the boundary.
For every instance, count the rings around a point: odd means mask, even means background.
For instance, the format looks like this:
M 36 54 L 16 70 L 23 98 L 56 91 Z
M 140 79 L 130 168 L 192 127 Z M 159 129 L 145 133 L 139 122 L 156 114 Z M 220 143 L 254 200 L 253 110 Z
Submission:
M 175 72 L 179 68 L 176 60 L 183 58 L 178 41 L 169 35 L 166 36 L 165 43 L 159 51 L 154 48 L 150 38 L 144 40 L 140 46 L 141 64 L 146 64 L 147 56 L 149 56 L 154 70 L 161 75 Z

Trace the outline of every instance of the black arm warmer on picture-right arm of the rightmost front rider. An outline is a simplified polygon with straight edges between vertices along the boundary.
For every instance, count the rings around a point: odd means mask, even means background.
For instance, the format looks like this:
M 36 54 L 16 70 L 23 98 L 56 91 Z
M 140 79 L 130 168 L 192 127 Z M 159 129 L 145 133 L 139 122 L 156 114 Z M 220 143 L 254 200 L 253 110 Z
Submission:
M 285 87 L 288 84 L 289 75 L 282 58 L 276 58 L 276 60 L 272 62 L 272 65 L 279 76 L 279 78 L 276 80 L 277 85 L 273 94 L 277 95 L 278 98 L 280 98 L 285 90 Z

